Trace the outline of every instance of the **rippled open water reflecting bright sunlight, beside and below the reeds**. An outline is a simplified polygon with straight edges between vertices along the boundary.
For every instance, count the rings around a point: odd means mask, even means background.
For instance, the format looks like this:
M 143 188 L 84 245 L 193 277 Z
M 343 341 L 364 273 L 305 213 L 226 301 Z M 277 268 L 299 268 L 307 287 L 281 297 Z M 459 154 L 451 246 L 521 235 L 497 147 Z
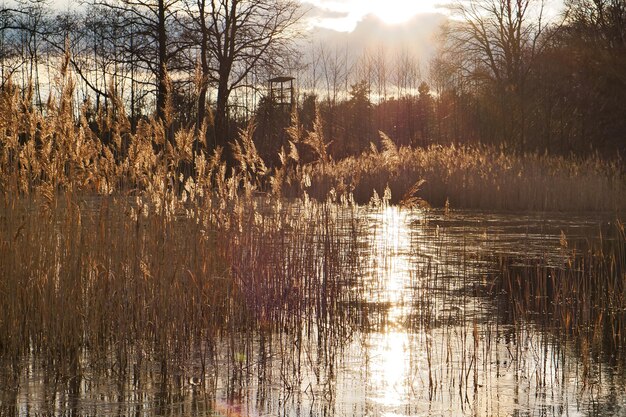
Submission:
M 337 222 L 358 269 L 328 319 L 223 332 L 173 354 L 141 346 L 129 367 L 59 373 L 2 358 L 2 414 L 98 416 L 626 415 L 621 352 L 593 351 L 516 318 L 494 290 L 501 263 L 565 265 L 611 214 L 358 209 Z M 532 317 L 532 316 L 529 316 Z M 111 347 L 111 355 L 115 349 Z M 19 363 L 16 363 L 19 362 Z M 11 372 L 11 369 L 17 370 Z

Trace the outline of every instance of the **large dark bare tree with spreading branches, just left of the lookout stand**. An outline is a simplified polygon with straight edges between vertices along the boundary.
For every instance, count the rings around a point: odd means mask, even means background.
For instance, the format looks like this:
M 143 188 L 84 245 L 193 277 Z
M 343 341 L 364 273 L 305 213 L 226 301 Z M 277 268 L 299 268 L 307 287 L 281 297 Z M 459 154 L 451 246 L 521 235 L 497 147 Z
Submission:
M 196 0 L 189 7 L 191 20 L 200 34 L 198 122 L 205 115 L 209 87 L 217 90 L 215 142 L 229 141 L 228 103 L 231 93 L 246 84 L 257 69 L 268 74 L 287 65 L 293 55 L 293 40 L 302 17 L 296 0 Z

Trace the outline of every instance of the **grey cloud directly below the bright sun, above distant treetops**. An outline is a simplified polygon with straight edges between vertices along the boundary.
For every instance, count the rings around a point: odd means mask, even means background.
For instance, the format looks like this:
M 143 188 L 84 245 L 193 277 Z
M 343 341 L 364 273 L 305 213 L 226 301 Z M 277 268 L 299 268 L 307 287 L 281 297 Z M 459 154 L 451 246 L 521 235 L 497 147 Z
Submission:
M 358 81 L 363 76 L 360 71 L 366 68 L 363 66 L 365 57 L 371 62 L 384 59 L 391 78 L 395 76 L 395 66 L 409 59 L 426 78 L 429 63 L 438 48 L 441 26 L 448 19 L 443 13 L 418 13 L 402 23 L 389 24 L 374 13 L 354 19 L 348 11 L 330 7 L 330 0 L 310 0 L 306 6 L 311 6 L 308 37 L 298 47 L 302 52 L 301 66 L 292 75 L 298 79 L 300 89 L 315 89 L 321 95 L 328 87 L 329 74 L 331 80 L 333 74 L 337 74 L 343 86 Z M 319 24 L 324 23 L 324 19 L 325 23 L 332 21 L 332 24 Z M 347 29 L 333 29 L 341 27 L 337 22 L 344 22 Z M 338 73 L 333 73 L 335 69 Z

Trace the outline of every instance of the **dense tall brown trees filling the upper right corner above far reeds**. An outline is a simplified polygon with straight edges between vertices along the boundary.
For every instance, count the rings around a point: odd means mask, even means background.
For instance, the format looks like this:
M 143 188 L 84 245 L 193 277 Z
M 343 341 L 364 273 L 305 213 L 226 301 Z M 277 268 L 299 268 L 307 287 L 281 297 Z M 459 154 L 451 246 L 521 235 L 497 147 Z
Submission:
M 455 9 L 434 76 L 463 130 L 520 151 L 615 156 L 626 149 L 626 1 L 535 0 Z

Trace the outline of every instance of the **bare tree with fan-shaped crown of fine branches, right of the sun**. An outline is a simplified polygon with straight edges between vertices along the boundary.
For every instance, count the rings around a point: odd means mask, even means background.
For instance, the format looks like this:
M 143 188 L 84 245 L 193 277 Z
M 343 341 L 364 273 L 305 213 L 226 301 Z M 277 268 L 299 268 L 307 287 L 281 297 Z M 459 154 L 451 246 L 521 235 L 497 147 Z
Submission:
M 526 82 L 547 44 L 544 0 L 469 0 L 452 6 L 460 22 L 445 31 L 446 58 L 466 82 L 495 93 L 498 135 L 525 145 Z

